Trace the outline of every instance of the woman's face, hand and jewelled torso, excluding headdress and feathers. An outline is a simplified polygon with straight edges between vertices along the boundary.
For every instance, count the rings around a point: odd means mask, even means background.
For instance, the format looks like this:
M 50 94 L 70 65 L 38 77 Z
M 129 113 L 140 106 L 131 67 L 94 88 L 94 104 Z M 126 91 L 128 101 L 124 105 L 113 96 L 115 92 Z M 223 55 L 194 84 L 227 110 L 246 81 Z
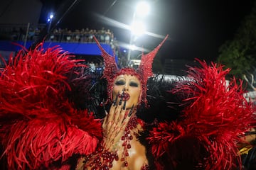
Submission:
M 120 93 L 120 91 L 122 92 Z M 137 77 L 124 74 L 119 75 L 114 81 L 112 91 L 114 102 L 102 124 L 102 152 L 111 152 L 115 157 L 112 161 L 105 162 L 109 168 L 142 169 L 143 167 L 146 169 L 148 165 L 146 149 L 137 139 L 137 135 L 143 129 L 142 125 L 138 123 L 136 109 L 134 109 L 139 103 L 141 94 L 142 85 Z M 92 163 L 97 156 L 98 154 L 92 156 L 91 161 L 79 165 L 78 169 L 82 169 L 82 166 L 87 169 L 96 166 L 97 164 Z M 84 161 L 83 159 L 82 162 Z M 103 162 L 101 160 L 101 163 Z

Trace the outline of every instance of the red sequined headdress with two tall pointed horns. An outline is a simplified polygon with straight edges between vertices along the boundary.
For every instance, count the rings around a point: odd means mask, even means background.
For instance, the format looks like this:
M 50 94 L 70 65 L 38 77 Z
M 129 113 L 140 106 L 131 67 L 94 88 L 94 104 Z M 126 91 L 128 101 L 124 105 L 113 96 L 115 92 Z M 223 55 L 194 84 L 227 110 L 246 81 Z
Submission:
M 139 81 L 141 81 L 140 83 L 142 84 L 142 95 L 139 98 L 139 105 L 143 102 L 145 106 L 147 106 L 146 83 L 149 77 L 153 76 L 152 64 L 153 64 L 154 57 L 156 56 L 156 53 L 159 51 L 159 48 L 164 44 L 167 38 L 168 38 L 168 35 L 166 35 L 164 40 L 154 50 L 152 50 L 148 54 L 144 55 L 144 53 L 142 52 L 142 60 L 138 69 L 133 69 L 128 67 L 118 69 L 117 64 L 114 60 L 114 55 L 113 56 L 109 55 L 100 45 L 100 42 L 94 37 L 97 45 L 100 47 L 100 50 L 102 52 L 102 57 L 105 63 L 105 69 L 103 71 L 102 78 L 107 79 L 107 82 L 108 82 L 107 102 L 112 101 L 112 88 L 114 86 L 114 80 L 116 79 L 116 77 L 122 74 L 128 74 L 128 75 L 137 77 Z

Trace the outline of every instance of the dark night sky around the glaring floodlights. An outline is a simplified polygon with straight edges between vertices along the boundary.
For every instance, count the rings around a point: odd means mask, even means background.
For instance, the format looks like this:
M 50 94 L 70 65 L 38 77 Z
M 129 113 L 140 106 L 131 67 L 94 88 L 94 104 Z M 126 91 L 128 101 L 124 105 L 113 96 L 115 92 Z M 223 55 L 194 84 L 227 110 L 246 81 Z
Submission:
M 42 0 L 43 1 L 43 0 Z M 254 0 L 154 0 L 146 17 L 147 31 L 169 35 L 161 55 L 171 59 L 193 60 L 195 57 L 214 61 L 218 48 L 233 38 L 243 18 L 252 9 Z M 55 8 L 58 28 L 110 28 L 119 42 L 129 42 L 129 31 L 110 26 L 98 16 L 129 25 L 132 21 L 133 0 L 44 0 L 44 8 Z M 65 15 L 64 15 L 65 13 Z M 156 47 L 159 38 L 144 35 L 138 45 Z

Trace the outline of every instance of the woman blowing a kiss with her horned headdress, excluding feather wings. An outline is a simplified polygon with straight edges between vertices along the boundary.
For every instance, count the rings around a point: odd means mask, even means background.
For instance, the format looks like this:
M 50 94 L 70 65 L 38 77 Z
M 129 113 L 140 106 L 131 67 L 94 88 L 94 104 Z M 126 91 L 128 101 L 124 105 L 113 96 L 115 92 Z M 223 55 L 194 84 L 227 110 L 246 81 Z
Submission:
M 105 60 L 103 77 L 108 81 L 108 98 L 113 104 L 102 123 L 103 139 L 97 149 L 98 152 L 80 160 L 77 169 L 108 167 L 111 169 L 140 170 L 149 168 L 146 148 L 137 138 L 139 133 L 143 131 L 144 123 L 137 119 L 136 112 L 142 101 L 146 103 L 146 82 L 152 75 L 151 64 L 166 38 L 155 50 L 147 55 L 142 55 L 143 64 L 139 70 L 117 69 L 117 65 L 113 61 L 114 57 L 108 55 L 95 39 Z M 151 60 L 151 62 L 145 63 L 145 60 Z M 110 156 L 107 157 L 110 161 L 105 160 L 107 159 L 105 152 L 110 153 Z

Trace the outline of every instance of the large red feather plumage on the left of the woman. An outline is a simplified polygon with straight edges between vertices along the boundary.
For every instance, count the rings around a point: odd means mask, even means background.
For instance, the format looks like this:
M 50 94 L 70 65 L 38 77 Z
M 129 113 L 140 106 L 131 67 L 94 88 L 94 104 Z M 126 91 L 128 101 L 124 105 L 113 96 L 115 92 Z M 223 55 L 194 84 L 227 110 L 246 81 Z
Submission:
M 0 132 L 10 169 L 39 169 L 73 154 L 90 154 L 101 124 L 65 95 L 68 74 L 80 67 L 60 47 L 18 52 L 0 79 Z M 66 166 L 63 166 L 66 167 Z

